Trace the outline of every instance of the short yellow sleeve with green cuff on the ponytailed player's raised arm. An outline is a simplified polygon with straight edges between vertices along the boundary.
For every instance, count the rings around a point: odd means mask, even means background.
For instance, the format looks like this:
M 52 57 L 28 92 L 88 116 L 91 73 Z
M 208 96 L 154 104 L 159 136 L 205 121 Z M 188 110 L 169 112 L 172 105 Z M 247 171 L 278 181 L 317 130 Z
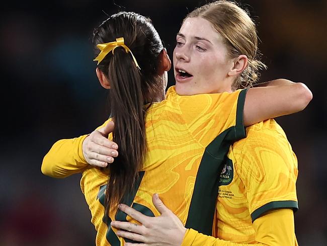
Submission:
M 185 123 L 203 146 L 225 133 L 227 141 L 245 137 L 243 107 L 247 89 L 232 93 L 181 96 L 180 108 Z

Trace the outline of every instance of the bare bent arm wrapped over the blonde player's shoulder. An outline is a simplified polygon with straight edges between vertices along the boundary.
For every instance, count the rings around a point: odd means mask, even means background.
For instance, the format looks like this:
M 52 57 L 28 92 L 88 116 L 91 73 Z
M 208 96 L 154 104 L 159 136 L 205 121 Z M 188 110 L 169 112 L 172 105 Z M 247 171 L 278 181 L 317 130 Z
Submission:
M 303 83 L 277 79 L 260 87 L 250 88 L 244 104 L 244 126 L 265 119 L 303 110 L 312 99 L 312 93 Z

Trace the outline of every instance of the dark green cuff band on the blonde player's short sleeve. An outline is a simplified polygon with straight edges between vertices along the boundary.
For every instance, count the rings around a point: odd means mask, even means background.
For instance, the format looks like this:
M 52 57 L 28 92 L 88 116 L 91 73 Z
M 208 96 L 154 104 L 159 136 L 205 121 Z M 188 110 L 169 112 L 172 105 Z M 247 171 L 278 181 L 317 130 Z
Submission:
M 296 201 L 274 201 L 261 206 L 260 208 L 253 211 L 251 214 L 252 222 L 262 216 L 264 213 L 268 212 L 269 210 L 274 209 L 282 209 L 282 208 L 289 208 L 293 209 L 294 212 L 298 210 L 298 204 Z

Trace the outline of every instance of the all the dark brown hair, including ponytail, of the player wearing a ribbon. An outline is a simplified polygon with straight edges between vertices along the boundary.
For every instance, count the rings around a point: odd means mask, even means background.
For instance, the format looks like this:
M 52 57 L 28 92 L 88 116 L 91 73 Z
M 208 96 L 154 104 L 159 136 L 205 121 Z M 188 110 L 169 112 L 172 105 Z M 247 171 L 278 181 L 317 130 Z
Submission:
M 141 70 L 123 47 L 117 47 L 114 54 L 107 54 L 98 65 L 111 86 L 113 141 L 119 146 L 119 156 L 109 165 L 106 213 L 123 202 L 124 194 L 134 187 L 146 153 L 144 104 L 154 101 L 163 88 L 157 75 L 158 56 L 163 46 L 150 20 L 131 12 L 111 16 L 94 32 L 95 55 L 100 52 L 97 44 L 120 37 L 133 52 Z

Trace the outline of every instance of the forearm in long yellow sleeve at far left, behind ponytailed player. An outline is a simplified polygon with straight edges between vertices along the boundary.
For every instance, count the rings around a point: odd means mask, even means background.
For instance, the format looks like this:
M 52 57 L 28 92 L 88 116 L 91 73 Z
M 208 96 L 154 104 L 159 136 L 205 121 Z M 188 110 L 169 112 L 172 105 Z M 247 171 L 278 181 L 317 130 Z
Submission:
M 88 165 L 82 151 L 82 144 L 87 136 L 57 141 L 43 158 L 42 173 L 63 178 L 81 172 Z

